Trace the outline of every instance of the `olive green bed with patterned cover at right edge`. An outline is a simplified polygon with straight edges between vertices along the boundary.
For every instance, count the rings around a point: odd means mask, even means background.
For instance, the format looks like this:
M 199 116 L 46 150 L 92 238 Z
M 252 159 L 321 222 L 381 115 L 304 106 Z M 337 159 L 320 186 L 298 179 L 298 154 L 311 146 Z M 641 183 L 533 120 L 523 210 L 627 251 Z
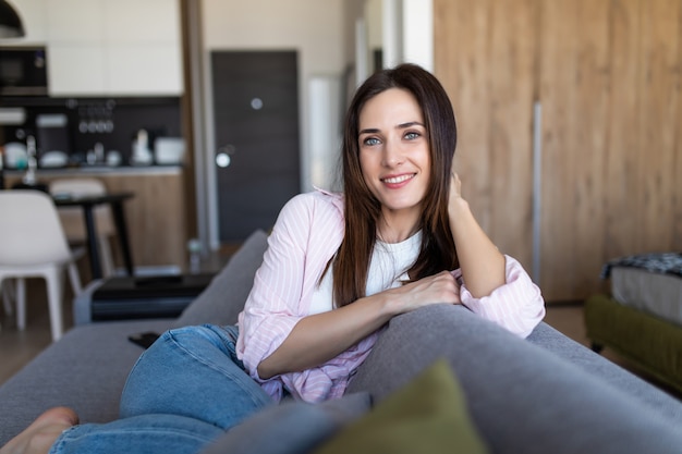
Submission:
M 682 254 L 620 257 L 605 263 L 610 293 L 585 302 L 593 349 L 609 347 L 682 392 Z

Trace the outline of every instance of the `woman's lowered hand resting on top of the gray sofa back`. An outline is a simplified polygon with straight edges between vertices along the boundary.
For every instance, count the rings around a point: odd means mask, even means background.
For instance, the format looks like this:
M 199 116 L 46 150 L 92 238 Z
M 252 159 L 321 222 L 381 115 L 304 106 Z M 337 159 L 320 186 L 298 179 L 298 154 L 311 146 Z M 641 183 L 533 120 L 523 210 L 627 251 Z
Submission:
M 398 314 L 439 303 L 461 304 L 460 284 L 448 271 L 382 292 Z

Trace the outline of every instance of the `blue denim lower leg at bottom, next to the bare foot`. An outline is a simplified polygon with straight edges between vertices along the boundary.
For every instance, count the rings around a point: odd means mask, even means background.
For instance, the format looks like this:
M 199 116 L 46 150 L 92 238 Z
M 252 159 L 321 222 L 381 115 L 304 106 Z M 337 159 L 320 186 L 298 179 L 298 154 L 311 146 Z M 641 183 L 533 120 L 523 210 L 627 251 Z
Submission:
M 184 416 L 135 416 L 68 429 L 52 444 L 50 454 L 193 454 L 222 433 L 214 425 Z

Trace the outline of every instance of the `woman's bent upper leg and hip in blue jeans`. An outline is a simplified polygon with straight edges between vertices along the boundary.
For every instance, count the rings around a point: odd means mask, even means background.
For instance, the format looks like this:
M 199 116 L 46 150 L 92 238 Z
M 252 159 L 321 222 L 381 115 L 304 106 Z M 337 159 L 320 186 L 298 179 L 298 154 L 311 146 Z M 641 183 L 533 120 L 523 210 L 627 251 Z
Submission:
M 227 430 L 272 398 L 234 351 L 235 327 L 167 331 L 137 360 L 121 396 L 121 418 L 180 415 Z

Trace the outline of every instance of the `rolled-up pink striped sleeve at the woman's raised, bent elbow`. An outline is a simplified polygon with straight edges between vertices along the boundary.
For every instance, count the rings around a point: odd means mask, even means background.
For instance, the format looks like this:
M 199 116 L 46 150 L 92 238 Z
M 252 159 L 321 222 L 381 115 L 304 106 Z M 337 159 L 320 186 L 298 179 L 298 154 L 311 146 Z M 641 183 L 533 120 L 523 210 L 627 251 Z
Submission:
M 510 256 L 506 258 L 507 283 L 488 296 L 475 298 L 462 283 L 462 304 L 512 333 L 527 338 L 545 317 L 545 300 L 537 285 L 521 263 Z

